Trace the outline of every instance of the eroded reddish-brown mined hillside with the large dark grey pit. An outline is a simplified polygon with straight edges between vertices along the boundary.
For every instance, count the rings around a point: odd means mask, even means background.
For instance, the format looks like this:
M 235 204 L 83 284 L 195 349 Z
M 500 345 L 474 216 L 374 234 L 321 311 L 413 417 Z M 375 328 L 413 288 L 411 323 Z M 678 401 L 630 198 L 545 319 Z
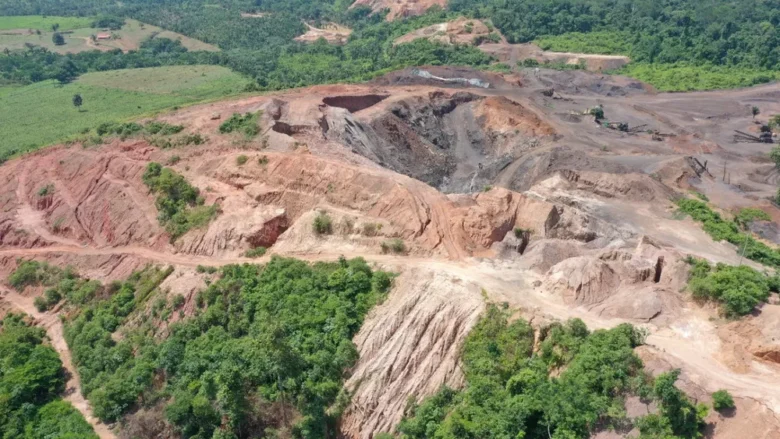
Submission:
M 752 105 L 780 112 L 767 100 L 778 86 L 664 95 L 581 71 L 422 71 L 183 108 L 156 119 L 180 133 L 108 136 L 11 160 L 0 167 L 2 274 L 19 258 L 106 283 L 170 265 L 161 291 L 183 302 L 164 331 L 197 314 L 198 292 L 213 280 L 202 267 L 361 256 L 399 277 L 354 337 L 345 437 L 392 431 L 410 397 L 463 385 L 461 345 L 487 302 L 506 302 L 537 328 L 571 317 L 594 329 L 646 328 L 640 350 L 652 370 L 681 368 L 699 400 L 721 388 L 734 395 L 733 416 L 707 419 L 713 437 L 746 428 L 778 437 L 776 297 L 736 322 L 692 300 L 688 256 L 761 267 L 675 206 L 696 191 L 724 213 L 755 207 L 780 218 L 769 200 L 778 180 L 770 146 L 732 139 L 752 128 Z M 594 122 L 597 106 L 629 128 Z M 237 128 L 222 128 L 230 121 Z M 173 239 L 144 179 L 151 162 L 198 188 L 214 218 Z M 247 253 L 261 247 L 261 258 Z M 0 310 L 51 322 L 57 308 L 30 311 L 41 293 L 7 289 Z

